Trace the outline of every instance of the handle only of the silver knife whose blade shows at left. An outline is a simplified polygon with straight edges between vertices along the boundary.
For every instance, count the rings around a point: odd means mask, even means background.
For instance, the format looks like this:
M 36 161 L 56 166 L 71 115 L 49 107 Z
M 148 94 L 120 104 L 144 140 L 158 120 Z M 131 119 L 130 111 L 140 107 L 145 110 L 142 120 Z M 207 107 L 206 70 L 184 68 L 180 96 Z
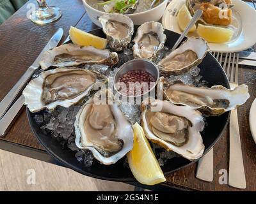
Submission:
M 28 83 L 28 80 L 32 77 L 33 73 L 37 68 L 31 66 L 27 69 L 27 71 L 22 75 L 19 81 L 12 87 L 11 91 L 4 97 L 4 99 L 0 103 L 0 119 L 4 116 L 4 113 L 8 110 L 8 108 L 12 105 L 13 101 L 20 92 L 23 90 L 24 86 Z

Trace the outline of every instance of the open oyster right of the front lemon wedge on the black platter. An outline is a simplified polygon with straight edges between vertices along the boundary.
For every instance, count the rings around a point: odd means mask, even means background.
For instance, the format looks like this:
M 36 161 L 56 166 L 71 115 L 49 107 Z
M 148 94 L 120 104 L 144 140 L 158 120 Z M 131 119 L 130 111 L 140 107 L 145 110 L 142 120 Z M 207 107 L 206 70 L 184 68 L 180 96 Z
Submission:
M 188 106 L 177 106 L 158 99 L 143 101 L 141 112 L 141 125 L 148 140 L 191 161 L 202 156 L 202 113 Z

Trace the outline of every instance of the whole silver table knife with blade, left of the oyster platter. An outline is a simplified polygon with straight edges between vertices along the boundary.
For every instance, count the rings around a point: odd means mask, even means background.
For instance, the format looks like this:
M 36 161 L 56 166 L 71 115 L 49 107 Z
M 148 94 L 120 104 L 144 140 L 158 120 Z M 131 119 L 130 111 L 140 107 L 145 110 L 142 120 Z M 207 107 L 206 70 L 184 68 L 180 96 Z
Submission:
M 39 61 L 45 51 L 54 48 L 58 45 L 63 36 L 63 29 L 59 28 L 58 31 L 52 36 L 51 40 L 44 47 L 40 55 L 36 58 L 35 62 L 27 69 L 27 71 L 22 75 L 19 81 L 12 87 L 11 91 L 4 97 L 0 103 L 0 119 L 4 116 L 8 108 L 12 105 L 13 101 L 17 98 L 20 92 L 23 90 L 24 86 L 28 83 L 28 80 L 35 73 L 36 69 L 39 68 Z

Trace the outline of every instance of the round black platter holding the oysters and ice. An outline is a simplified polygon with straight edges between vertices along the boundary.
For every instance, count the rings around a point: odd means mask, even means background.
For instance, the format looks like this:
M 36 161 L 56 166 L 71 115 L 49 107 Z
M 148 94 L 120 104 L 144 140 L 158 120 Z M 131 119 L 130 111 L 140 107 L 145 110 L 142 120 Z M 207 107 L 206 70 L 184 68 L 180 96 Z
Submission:
M 134 27 L 134 33 L 136 33 L 137 28 L 138 26 Z M 96 29 L 91 33 L 105 38 L 105 34 L 102 32 L 102 29 Z M 172 47 L 180 36 L 179 34 L 168 30 L 166 30 L 164 33 L 167 36 L 165 45 L 168 47 Z M 204 80 L 209 83 L 209 87 L 212 85 L 223 85 L 224 87 L 230 88 L 223 69 L 211 54 L 208 53 L 206 55 L 204 61 L 202 61 L 202 63 L 199 65 L 199 68 L 201 69 L 200 75 L 202 75 Z M 38 126 L 34 120 L 35 113 L 29 112 L 28 108 L 27 115 L 31 129 L 36 138 L 38 138 L 39 142 L 44 146 L 49 154 L 51 154 L 54 158 L 60 161 L 60 163 L 63 163 L 68 168 L 78 171 L 84 175 L 95 177 L 97 179 L 124 182 L 135 180 L 131 170 L 124 166 L 124 158 L 120 159 L 120 161 L 118 161 L 116 164 L 112 164 L 110 166 L 105 166 L 94 162 L 91 167 L 85 168 L 82 163 L 77 161 L 74 152 L 69 149 L 62 149 L 60 143 L 57 142 L 55 138 L 53 138 L 51 135 L 45 135 L 42 132 L 40 126 Z M 206 119 L 208 125 L 205 127 L 204 132 L 202 133 L 202 138 L 205 145 L 204 154 L 208 152 L 211 147 L 218 141 L 223 131 L 225 130 L 225 127 L 227 126 L 228 118 L 229 113 L 225 113 L 218 117 L 209 117 Z M 170 159 L 162 169 L 166 175 L 172 173 L 173 171 L 177 171 L 191 163 L 193 162 L 189 161 L 188 159 L 184 159 L 183 157 L 175 157 Z

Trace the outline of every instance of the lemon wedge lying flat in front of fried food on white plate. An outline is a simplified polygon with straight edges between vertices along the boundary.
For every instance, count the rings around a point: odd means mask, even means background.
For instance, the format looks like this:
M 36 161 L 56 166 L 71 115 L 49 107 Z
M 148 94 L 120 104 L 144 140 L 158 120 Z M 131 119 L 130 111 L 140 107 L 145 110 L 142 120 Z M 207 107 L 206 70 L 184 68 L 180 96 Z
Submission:
M 197 33 L 209 43 L 225 43 L 232 39 L 234 31 L 224 27 L 198 24 Z

